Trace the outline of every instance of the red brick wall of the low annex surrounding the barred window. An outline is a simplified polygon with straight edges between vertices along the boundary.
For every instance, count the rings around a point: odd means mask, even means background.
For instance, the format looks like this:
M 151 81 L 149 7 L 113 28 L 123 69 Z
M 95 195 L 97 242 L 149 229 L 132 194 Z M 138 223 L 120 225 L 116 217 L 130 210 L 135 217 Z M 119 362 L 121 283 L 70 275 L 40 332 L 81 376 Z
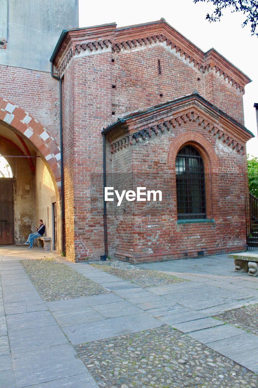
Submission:
M 214 222 L 177 223 L 175 139 L 189 131 L 200 133 L 197 146 L 209 154 L 207 160 L 204 158 L 205 171 L 209 176 L 206 180 L 206 207 L 210 213 L 207 218 Z M 191 136 L 194 139 L 194 135 Z M 215 153 L 210 151 L 209 144 L 212 144 Z M 196 146 L 194 142 L 193 146 Z M 170 159 L 166 163 L 169 151 Z M 174 157 L 171 152 L 174 152 Z M 216 139 L 197 123 L 185 123 L 173 131 L 151 137 L 148 142 L 140 140 L 115 152 L 113 166 L 114 172 L 120 172 L 120 182 L 126 177 L 124 171 L 133 171 L 135 191 L 137 185 L 142 185 L 163 192 L 159 204 L 124 201 L 115 209 L 116 257 L 126 260 L 127 256 L 131 262 L 148 262 L 194 257 L 198 251 L 211 255 L 244 249 L 245 156 Z M 124 180 L 127 186 L 120 184 L 119 191 L 130 189 L 128 176 Z

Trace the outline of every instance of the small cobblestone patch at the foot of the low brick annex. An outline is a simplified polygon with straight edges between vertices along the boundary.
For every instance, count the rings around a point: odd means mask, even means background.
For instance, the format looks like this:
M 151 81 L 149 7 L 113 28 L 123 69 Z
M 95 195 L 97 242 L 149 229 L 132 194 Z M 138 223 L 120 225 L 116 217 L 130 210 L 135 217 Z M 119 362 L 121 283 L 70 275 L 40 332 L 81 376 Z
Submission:
M 98 264 L 91 262 L 90 264 L 95 268 L 108 272 L 108 274 L 120 277 L 142 288 L 165 286 L 166 284 L 187 281 L 185 279 L 180 279 L 177 276 L 166 275 L 158 271 L 146 270 L 145 268 L 139 268 L 136 265 L 114 259 L 100 262 Z

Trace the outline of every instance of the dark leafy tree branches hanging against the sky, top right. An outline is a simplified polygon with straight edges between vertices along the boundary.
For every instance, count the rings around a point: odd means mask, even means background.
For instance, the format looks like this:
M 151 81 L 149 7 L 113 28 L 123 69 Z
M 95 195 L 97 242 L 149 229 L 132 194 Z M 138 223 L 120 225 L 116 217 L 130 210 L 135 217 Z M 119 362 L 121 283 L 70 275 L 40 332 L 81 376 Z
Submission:
M 251 35 L 258 36 L 258 2 L 257 0 L 193 0 L 194 4 L 198 2 L 213 3 L 215 9 L 212 14 L 207 14 L 206 19 L 211 22 L 220 21 L 223 16 L 223 10 L 229 8 L 231 13 L 242 11 L 246 17 L 242 27 L 251 24 Z

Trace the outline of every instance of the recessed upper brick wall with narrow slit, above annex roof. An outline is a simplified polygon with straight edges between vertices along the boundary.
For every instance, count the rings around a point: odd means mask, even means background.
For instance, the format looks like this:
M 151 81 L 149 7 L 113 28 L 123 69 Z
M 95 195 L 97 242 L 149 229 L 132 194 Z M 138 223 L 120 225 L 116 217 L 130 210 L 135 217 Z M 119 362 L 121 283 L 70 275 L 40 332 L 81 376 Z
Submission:
M 115 118 L 192 94 L 194 90 L 205 97 L 203 74 L 168 52 L 162 43 L 137 51 L 114 53 L 112 57 Z

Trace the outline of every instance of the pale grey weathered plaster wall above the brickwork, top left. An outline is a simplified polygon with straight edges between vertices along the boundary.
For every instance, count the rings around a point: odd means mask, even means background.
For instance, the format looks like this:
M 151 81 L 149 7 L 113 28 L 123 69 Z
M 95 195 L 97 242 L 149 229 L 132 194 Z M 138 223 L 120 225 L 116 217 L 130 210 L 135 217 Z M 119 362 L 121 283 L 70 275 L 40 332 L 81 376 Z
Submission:
M 49 59 L 62 29 L 79 26 L 78 0 L 1 0 L 0 5 L 0 25 L 7 31 L 0 64 L 50 71 Z

